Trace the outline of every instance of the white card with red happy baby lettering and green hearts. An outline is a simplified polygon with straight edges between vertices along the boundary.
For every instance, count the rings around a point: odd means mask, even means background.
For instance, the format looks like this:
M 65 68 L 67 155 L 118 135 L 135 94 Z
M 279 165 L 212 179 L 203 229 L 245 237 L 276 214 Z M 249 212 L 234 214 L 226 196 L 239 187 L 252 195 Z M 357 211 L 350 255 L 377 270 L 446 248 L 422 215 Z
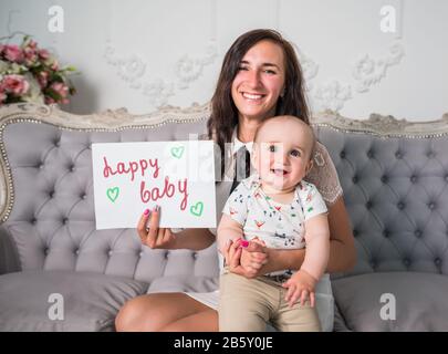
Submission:
M 136 228 L 160 206 L 162 228 L 215 228 L 212 140 L 92 144 L 96 229 Z

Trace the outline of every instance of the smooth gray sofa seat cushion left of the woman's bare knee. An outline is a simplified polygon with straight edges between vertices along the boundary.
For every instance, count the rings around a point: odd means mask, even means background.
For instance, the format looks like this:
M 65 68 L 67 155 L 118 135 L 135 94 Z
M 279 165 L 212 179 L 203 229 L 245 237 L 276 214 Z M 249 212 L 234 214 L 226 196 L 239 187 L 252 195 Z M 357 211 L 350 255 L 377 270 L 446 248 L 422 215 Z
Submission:
M 113 331 L 123 304 L 147 283 L 87 272 L 24 271 L 0 277 L 0 331 Z M 63 296 L 63 320 L 51 320 Z

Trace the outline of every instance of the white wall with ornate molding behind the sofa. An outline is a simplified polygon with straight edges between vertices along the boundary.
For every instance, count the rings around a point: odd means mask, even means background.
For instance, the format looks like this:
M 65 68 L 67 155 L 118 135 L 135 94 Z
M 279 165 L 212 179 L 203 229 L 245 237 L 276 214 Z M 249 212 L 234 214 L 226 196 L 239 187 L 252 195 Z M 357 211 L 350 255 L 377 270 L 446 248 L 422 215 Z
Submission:
M 63 33 L 48 30 L 54 4 Z M 397 11 L 396 33 L 381 31 L 385 4 Z M 207 102 L 232 41 L 273 28 L 300 50 L 314 112 L 428 121 L 448 112 L 447 19 L 447 0 L 1 0 L 0 37 L 31 33 L 79 69 L 66 110 L 148 113 Z M 376 82 L 360 87 L 355 67 Z

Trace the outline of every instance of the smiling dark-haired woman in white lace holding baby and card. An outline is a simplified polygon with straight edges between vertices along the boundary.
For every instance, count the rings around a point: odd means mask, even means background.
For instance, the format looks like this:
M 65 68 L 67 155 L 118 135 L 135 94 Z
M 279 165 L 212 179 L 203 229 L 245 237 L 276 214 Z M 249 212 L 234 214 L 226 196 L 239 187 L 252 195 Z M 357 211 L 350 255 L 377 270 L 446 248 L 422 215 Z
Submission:
M 294 115 L 309 123 L 302 71 L 292 45 L 272 30 L 242 34 L 227 52 L 208 122 L 209 138 L 221 148 L 223 180 L 235 174 L 235 147 L 253 140 L 258 125 L 274 115 Z M 230 163 L 226 144 L 232 143 Z M 355 263 L 354 239 L 350 228 L 342 189 L 326 149 L 316 149 L 315 167 L 309 180 L 316 185 L 329 206 L 331 251 L 327 272 L 346 271 Z M 217 210 L 222 210 L 230 185 L 217 185 Z M 208 229 L 186 229 L 177 237 L 170 229 L 158 228 L 159 214 L 153 210 L 149 230 L 146 211 L 137 230 L 150 248 L 200 250 L 215 241 Z M 263 253 L 264 252 L 264 253 Z M 304 250 L 251 249 L 241 251 L 229 244 L 226 262 L 247 278 L 275 270 L 298 269 Z M 322 289 L 331 298 L 330 280 Z M 218 293 L 154 293 L 128 301 L 116 317 L 117 331 L 218 331 Z M 317 310 L 320 308 L 317 301 Z M 322 321 L 322 319 L 321 319 Z M 326 330 L 331 330 L 327 326 Z

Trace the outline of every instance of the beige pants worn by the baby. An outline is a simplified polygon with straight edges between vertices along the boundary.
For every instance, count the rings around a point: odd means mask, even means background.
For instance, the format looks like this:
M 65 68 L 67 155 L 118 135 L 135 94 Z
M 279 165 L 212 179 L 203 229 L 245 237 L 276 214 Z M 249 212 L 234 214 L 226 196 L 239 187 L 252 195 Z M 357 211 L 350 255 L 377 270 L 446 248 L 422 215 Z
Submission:
M 310 302 L 284 301 L 286 289 L 280 283 L 259 277 L 247 279 L 226 272 L 219 281 L 219 331 L 262 332 L 267 322 L 279 331 L 320 332 L 317 311 Z

